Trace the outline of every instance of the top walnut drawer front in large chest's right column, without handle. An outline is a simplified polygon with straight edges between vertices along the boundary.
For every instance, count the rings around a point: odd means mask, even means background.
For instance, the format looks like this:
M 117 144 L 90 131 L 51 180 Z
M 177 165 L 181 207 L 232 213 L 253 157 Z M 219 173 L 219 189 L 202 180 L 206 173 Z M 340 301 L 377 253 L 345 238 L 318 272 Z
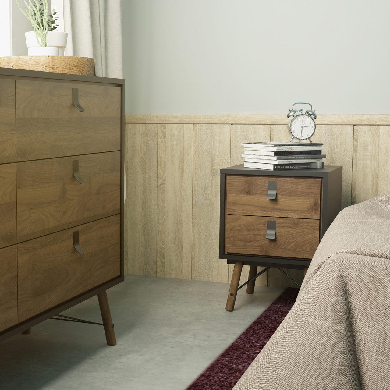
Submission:
M 120 87 L 16 80 L 17 161 L 120 149 Z

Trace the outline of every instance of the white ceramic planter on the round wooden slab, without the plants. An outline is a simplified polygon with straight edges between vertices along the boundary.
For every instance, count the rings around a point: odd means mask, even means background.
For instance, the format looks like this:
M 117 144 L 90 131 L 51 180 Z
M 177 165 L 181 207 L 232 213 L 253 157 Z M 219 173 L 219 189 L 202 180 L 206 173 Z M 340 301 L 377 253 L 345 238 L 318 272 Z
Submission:
M 26 32 L 26 46 L 28 55 L 64 55 L 68 33 L 62 31 L 48 31 L 47 46 L 42 47 L 35 37 L 34 31 Z

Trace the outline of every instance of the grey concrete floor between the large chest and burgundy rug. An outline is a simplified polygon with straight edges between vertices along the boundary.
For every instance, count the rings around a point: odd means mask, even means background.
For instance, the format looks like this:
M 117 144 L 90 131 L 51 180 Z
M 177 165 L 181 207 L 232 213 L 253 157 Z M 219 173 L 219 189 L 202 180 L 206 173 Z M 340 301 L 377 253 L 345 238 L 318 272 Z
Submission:
M 184 390 L 283 291 L 128 275 L 108 290 L 117 346 L 101 326 L 47 320 L 0 344 L 1 390 Z M 97 298 L 64 314 L 100 322 Z

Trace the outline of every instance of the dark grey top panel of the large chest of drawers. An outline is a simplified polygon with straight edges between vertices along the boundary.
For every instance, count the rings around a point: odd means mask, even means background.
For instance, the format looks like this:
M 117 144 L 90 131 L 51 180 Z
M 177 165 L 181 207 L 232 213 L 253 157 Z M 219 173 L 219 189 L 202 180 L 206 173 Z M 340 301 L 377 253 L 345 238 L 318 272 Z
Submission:
M 49 80 L 67 80 L 67 81 L 87 81 L 93 83 L 106 84 L 121 84 L 125 82 L 121 78 L 97 77 L 97 76 L 83 76 L 81 74 L 67 74 L 54 72 L 40 72 L 30 71 L 24 69 L 11 69 L 0 67 L 0 76 L 14 76 L 14 77 L 34 77 Z

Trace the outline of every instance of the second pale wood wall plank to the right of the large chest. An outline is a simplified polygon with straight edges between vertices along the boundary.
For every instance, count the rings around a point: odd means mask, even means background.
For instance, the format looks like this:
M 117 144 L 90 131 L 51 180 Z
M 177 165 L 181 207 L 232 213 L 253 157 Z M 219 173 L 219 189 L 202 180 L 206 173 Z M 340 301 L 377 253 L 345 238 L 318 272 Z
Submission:
M 192 124 L 158 126 L 157 276 L 191 279 Z

